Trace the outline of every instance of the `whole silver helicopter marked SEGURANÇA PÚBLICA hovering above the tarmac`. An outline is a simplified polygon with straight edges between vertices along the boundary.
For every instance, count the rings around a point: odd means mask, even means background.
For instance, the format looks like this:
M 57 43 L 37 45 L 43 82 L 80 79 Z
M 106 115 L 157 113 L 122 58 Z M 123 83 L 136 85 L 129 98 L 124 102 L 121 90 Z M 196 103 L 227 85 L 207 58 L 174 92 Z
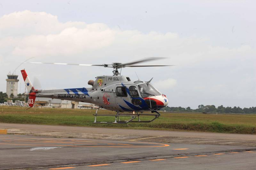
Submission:
M 61 100 L 71 100 L 76 102 L 86 102 L 99 106 L 93 123 L 116 123 L 125 124 L 129 122 L 152 122 L 160 116 L 157 110 L 168 105 L 166 95 L 159 92 L 149 81 L 135 80 L 132 81 L 128 76 L 123 76 L 118 72 L 118 69 L 124 67 L 158 67 L 158 66 L 173 66 L 173 65 L 134 65 L 146 61 L 159 60 L 163 57 L 150 57 L 129 63 L 111 63 L 111 64 L 68 64 L 68 63 L 41 63 L 41 62 L 23 62 L 32 64 L 60 64 L 60 65 L 78 65 L 78 66 L 103 66 L 110 67 L 114 70 L 111 76 L 97 76 L 94 80 L 89 80 L 88 85 L 91 87 L 82 88 L 67 88 L 57 90 L 38 90 L 35 89 L 29 80 L 27 72 L 21 70 L 25 86 L 28 90 L 28 105 L 29 108 L 35 104 L 36 97 L 46 97 Z M 51 103 L 50 103 L 51 104 Z M 28 109 L 29 109 L 28 108 Z M 99 115 L 100 108 L 111 111 L 116 111 L 115 115 Z M 151 111 L 151 114 L 143 112 Z M 114 122 L 98 122 L 97 116 L 114 116 Z M 127 117 L 128 120 L 120 120 L 120 117 Z M 140 116 L 153 116 L 151 120 L 140 120 Z M 138 117 L 138 120 L 134 120 Z

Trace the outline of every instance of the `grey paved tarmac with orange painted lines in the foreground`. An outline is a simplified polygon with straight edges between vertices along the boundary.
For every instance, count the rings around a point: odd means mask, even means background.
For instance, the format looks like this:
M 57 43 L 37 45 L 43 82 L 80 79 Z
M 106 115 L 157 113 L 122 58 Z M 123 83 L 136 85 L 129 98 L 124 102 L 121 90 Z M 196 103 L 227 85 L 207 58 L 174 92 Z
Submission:
M 228 137 L 225 138 L 222 134 L 215 134 L 214 137 L 213 133 L 213 138 L 208 138 L 208 142 L 212 141 L 212 144 L 206 144 L 204 141 L 207 137 L 202 135 L 209 134 L 200 133 L 203 143 L 200 142 L 200 137 L 188 137 L 194 140 L 191 144 L 187 138 L 181 143 L 180 139 L 173 140 L 172 143 L 163 142 L 168 136 L 160 136 L 161 133 L 150 136 L 147 134 L 150 131 L 142 134 L 143 130 L 135 130 L 137 134 L 133 134 L 132 129 L 115 129 L 117 134 L 99 133 L 96 139 L 85 138 L 90 137 L 91 132 L 82 127 L 19 124 L 6 126 L 0 123 L 0 128 L 4 126 L 12 134 L 0 135 L 0 169 L 255 169 L 256 166 L 254 135 L 244 135 L 248 137 L 247 140 L 240 138 L 243 135 L 227 134 Z M 75 137 L 70 134 L 69 137 L 60 137 L 65 134 L 61 128 L 70 128 L 70 131 L 66 130 L 68 134 L 75 129 Z M 77 128 L 81 128 L 81 131 Z M 122 130 L 131 131 L 119 135 Z M 81 137 L 77 137 L 79 134 Z M 214 144 L 218 137 L 221 137 L 219 140 L 233 142 Z M 239 142 L 235 143 L 236 140 Z M 244 145 L 242 140 L 245 141 Z

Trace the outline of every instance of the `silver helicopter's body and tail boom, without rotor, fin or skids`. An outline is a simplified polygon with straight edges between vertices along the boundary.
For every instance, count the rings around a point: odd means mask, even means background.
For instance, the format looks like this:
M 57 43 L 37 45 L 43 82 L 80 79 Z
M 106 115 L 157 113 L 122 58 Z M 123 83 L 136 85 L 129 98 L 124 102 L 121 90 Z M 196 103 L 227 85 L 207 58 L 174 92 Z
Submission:
M 146 81 L 131 81 L 126 76 L 98 76 L 89 83 L 92 87 L 37 90 L 36 97 L 93 103 L 121 112 L 158 110 L 168 104 L 166 96 Z

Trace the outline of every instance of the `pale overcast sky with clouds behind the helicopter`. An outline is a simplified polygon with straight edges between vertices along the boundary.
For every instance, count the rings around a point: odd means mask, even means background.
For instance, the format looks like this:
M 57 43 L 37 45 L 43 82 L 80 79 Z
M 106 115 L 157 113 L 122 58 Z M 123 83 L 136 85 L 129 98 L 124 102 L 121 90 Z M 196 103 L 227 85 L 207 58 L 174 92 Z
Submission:
M 0 91 L 34 62 L 104 64 L 168 57 L 124 68 L 152 80 L 169 106 L 256 106 L 255 1 L 0 1 Z M 88 87 L 111 68 L 23 64 L 43 89 Z M 36 83 L 38 85 L 38 83 Z M 21 89 L 21 90 L 20 90 Z

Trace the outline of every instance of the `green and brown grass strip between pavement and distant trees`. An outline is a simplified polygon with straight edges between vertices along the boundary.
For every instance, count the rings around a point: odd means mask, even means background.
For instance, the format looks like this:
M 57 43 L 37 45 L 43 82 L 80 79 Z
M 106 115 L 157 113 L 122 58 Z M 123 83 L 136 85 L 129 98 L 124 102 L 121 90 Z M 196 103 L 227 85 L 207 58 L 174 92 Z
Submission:
M 2 112 L 3 110 L 3 112 Z M 0 107 L 0 122 L 45 125 L 116 127 L 130 129 L 193 130 L 204 132 L 256 134 L 256 115 L 210 115 L 161 113 L 151 123 L 93 124 L 95 110 Z M 100 110 L 98 114 L 115 114 Z M 115 117 L 98 117 L 98 121 L 113 122 Z M 147 120 L 148 118 L 141 118 Z

